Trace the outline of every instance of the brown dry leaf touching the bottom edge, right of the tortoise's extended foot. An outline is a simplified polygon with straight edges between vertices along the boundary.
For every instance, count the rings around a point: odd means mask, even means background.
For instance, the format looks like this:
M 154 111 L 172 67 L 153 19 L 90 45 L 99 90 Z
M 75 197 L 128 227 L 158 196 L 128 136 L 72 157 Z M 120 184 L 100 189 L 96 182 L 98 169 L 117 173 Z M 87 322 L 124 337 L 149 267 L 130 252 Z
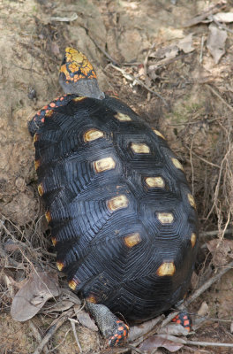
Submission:
M 177 339 L 177 337 L 173 338 L 174 340 L 179 340 L 180 342 L 172 342 L 172 335 L 170 335 L 169 338 L 163 335 L 153 335 L 147 338 L 146 341 L 144 341 L 142 344 L 140 344 L 139 349 L 141 351 L 147 350 L 147 353 L 149 354 L 155 348 L 163 347 L 174 353 L 175 351 L 180 350 L 184 346 L 185 341 Z

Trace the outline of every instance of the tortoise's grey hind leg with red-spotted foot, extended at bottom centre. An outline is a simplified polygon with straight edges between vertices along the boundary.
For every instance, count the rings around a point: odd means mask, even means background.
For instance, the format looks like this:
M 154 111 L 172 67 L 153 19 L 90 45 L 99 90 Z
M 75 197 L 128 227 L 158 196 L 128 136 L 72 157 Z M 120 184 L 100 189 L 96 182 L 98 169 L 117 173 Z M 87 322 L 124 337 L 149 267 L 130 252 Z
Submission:
M 127 340 L 129 327 L 110 312 L 103 304 L 86 302 L 87 311 L 90 312 L 102 335 L 108 339 L 110 347 L 123 346 Z

